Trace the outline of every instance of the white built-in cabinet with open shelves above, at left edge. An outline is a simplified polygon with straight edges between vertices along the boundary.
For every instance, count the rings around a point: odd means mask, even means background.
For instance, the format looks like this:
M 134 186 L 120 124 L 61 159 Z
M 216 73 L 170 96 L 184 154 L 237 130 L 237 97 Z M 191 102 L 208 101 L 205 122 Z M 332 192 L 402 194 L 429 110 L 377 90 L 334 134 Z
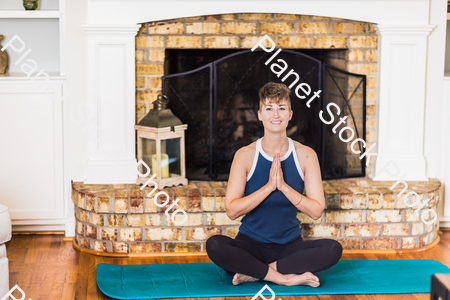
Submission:
M 61 230 L 66 220 L 64 1 L 39 2 L 26 11 L 20 0 L 0 1 L 1 45 L 14 41 L 0 75 L 0 203 L 13 230 Z

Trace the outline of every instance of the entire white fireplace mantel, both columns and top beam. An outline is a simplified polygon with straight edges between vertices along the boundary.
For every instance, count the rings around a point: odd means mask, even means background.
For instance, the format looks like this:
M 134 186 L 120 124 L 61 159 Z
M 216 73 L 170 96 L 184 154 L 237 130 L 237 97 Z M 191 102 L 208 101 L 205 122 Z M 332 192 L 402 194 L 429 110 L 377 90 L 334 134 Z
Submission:
M 375 179 L 398 179 L 386 173 L 378 176 L 383 166 L 394 162 L 402 174 L 407 174 L 403 179 L 427 180 L 423 155 L 427 36 L 434 28 L 428 25 L 427 0 L 279 1 L 276 6 L 269 1 L 185 3 L 89 2 L 88 22 L 83 28 L 87 34 L 88 106 L 94 117 L 88 125 L 97 130 L 87 137 L 85 183 L 136 182 L 133 126 L 137 23 L 239 12 L 307 14 L 377 23 L 379 135 Z M 117 144 L 109 142 L 110 138 Z

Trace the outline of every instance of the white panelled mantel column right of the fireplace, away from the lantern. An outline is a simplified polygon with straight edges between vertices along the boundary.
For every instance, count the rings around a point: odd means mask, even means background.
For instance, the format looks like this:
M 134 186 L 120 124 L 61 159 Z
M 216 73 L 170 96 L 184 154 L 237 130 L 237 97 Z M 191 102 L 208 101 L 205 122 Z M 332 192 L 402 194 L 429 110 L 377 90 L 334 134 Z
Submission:
M 423 155 L 427 37 L 435 26 L 374 27 L 378 34 L 379 110 L 373 179 L 428 180 Z

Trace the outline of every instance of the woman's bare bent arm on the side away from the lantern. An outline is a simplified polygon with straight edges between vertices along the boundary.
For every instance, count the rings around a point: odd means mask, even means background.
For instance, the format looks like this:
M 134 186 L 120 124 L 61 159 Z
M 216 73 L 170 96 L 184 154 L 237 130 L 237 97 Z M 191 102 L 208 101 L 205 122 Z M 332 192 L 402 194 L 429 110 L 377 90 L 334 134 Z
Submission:
M 300 204 L 297 205 L 297 209 L 314 220 L 317 220 L 322 216 L 322 212 L 325 209 L 325 197 L 320 175 L 320 165 L 316 152 L 311 148 L 305 147 L 305 149 L 307 150 L 302 151 L 304 153 L 304 159 L 302 161 L 305 162 L 304 175 L 306 197 L 302 196 L 287 184 L 283 184 L 281 191 L 293 205 L 297 204 L 300 199 L 302 199 Z

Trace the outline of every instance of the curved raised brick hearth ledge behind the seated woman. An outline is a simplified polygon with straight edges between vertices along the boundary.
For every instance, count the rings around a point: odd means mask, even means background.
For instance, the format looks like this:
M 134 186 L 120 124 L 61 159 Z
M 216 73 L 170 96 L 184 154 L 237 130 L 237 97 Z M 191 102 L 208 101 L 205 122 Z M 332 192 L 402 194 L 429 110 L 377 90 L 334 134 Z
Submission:
M 423 223 L 420 216 L 426 207 L 416 215 L 414 208 L 419 204 L 408 208 L 404 203 L 406 193 L 397 197 L 389 189 L 393 183 L 370 178 L 323 181 L 326 209 L 322 216 L 313 220 L 297 214 L 303 239 L 331 238 L 345 250 L 360 251 L 417 249 L 432 244 L 438 238 L 438 221 Z M 441 198 L 437 179 L 407 183 L 408 191 L 417 192 L 421 202 L 429 198 L 428 208 L 436 211 Z M 144 192 L 147 195 L 153 188 L 141 191 L 136 184 L 73 182 L 74 246 L 100 255 L 205 251 L 210 236 L 235 237 L 238 232 L 242 217 L 230 220 L 225 213 L 226 186 L 226 181 L 189 181 L 188 185 L 164 188 L 160 191 L 165 191 L 170 201 L 159 208 L 153 197 L 144 198 Z M 402 188 L 399 184 L 394 191 L 399 193 Z M 181 226 L 164 213 L 173 199 L 180 199 L 178 209 L 187 212 Z M 165 196 L 160 197 L 160 201 L 165 200 Z M 183 214 L 176 217 L 179 222 Z

